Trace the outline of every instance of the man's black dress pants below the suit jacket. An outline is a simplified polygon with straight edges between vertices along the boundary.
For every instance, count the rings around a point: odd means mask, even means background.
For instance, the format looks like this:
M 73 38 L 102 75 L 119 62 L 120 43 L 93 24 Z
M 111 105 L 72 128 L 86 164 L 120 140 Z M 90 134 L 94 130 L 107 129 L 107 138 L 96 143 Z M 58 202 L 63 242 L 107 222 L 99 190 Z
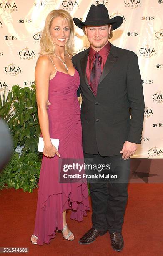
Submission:
M 118 156 L 100 156 L 84 153 L 85 159 L 92 159 L 92 164 L 110 164 L 108 173 L 121 177 L 119 180 L 108 179 L 105 182 L 90 183 L 92 201 L 93 228 L 109 233 L 121 232 L 124 222 L 125 207 L 128 200 L 128 180 L 130 175 L 130 159 L 124 160 Z M 99 180 L 98 180 L 99 181 Z

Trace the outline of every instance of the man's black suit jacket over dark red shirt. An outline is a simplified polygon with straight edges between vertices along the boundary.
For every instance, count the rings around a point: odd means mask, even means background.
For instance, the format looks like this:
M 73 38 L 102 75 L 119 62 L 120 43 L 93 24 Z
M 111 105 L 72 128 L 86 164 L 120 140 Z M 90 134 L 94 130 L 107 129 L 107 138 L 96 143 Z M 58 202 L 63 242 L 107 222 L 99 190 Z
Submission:
M 83 99 L 83 151 L 119 155 L 125 141 L 141 143 L 144 97 L 138 57 L 111 44 L 95 97 L 86 77 L 88 54 L 89 48 L 72 58 Z

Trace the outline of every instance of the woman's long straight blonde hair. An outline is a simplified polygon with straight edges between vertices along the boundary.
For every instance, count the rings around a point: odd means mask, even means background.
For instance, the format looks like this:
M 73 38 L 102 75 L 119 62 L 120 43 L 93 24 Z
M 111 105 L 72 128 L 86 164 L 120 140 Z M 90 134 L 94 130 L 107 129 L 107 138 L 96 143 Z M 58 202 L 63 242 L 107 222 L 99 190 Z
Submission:
M 68 21 L 69 23 L 70 36 L 66 43 L 66 50 L 68 51 L 69 54 L 73 54 L 73 39 L 74 39 L 73 19 L 67 11 L 62 9 L 52 10 L 46 17 L 45 26 L 40 39 L 40 46 L 41 46 L 40 54 L 54 54 L 55 52 L 55 44 L 50 35 L 50 27 L 52 25 L 53 20 L 58 16 L 61 17 L 63 20 Z

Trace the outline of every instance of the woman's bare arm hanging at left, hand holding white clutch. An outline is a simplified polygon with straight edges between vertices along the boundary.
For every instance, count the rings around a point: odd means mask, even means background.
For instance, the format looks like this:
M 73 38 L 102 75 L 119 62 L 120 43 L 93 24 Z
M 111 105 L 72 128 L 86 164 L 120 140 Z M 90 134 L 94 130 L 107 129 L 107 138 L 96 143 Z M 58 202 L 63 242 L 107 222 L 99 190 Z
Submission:
M 52 72 L 52 65 L 48 56 L 40 56 L 35 67 L 36 100 L 38 105 L 38 119 L 44 141 L 43 154 L 53 157 L 60 156 L 55 146 L 50 141 L 49 119 L 47 113 L 49 78 Z

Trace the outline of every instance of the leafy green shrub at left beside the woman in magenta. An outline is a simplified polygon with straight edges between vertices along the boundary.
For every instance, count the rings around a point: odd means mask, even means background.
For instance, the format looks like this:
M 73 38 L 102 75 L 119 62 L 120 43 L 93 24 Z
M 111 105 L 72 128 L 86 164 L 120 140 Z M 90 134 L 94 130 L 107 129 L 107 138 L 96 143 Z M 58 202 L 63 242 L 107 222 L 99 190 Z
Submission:
M 0 174 L 0 189 L 14 187 L 32 192 L 37 187 L 42 154 L 38 153 L 38 122 L 35 86 L 14 85 L 0 95 L 0 117 L 8 123 L 13 138 L 13 156 Z M 22 148 L 20 153 L 15 150 Z

